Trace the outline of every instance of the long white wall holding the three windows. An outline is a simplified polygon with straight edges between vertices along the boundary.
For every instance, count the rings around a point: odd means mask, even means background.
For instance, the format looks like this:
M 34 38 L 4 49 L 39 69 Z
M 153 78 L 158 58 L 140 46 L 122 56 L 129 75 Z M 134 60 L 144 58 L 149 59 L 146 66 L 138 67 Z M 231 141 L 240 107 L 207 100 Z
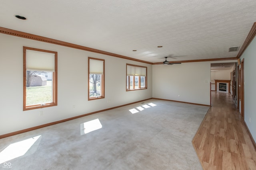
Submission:
M 151 64 L 5 34 L 0 40 L 0 135 L 152 98 Z M 58 52 L 58 106 L 22 111 L 23 46 Z M 104 99 L 88 101 L 88 57 L 105 59 Z M 126 92 L 126 63 L 148 67 L 148 89 Z

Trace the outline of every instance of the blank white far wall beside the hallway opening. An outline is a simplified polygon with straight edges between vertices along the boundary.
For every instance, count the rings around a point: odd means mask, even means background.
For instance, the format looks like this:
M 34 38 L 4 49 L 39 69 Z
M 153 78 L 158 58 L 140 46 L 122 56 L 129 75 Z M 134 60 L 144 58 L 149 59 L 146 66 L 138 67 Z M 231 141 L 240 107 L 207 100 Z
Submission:
M 210 105 L 210 62 L 153 65 L 153 98 Z

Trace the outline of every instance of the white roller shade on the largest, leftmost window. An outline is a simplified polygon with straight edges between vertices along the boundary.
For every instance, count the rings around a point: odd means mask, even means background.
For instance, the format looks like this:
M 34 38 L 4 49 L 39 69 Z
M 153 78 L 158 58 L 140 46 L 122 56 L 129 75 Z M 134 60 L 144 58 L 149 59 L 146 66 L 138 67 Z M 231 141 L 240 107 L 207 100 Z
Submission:
M 55 54 L 26 50 L 26 70 L 55 71 Z

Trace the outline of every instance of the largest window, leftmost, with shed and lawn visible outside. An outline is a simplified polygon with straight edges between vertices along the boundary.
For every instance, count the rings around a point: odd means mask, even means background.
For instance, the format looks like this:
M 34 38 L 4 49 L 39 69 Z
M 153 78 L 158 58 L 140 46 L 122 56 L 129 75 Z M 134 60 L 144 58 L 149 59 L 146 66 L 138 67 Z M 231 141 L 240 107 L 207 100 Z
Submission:
M 57 106 L 57 52 L 23 47 L 23 110 L 50 106 Z

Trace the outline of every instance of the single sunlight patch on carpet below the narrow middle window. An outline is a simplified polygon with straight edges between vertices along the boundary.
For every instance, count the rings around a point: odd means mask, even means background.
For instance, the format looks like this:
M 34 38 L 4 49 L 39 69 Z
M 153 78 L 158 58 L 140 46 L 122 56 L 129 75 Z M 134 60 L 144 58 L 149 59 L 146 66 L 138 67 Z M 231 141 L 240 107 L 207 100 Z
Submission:
M 99 119 L 94 119 L 91 121 L 81 123 L 80 127 L 81 127 L 80 135 L 85 135 L 86 133 L 90 133 L 92 131 L 96 131 L 102 128 L 102 124 L 100 123 Z

